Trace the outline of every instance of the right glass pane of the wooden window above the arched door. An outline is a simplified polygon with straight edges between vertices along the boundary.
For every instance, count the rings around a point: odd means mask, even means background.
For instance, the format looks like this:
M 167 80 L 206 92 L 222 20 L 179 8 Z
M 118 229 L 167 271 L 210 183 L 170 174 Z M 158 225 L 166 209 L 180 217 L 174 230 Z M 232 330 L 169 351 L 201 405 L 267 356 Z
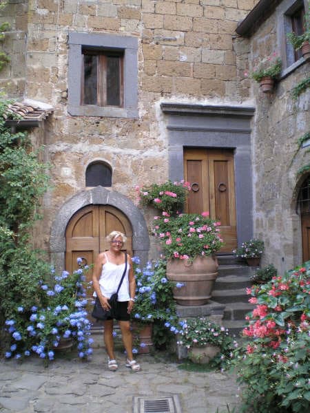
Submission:
M 107 56 L 107 105 L 120 106 L 120 58 Z

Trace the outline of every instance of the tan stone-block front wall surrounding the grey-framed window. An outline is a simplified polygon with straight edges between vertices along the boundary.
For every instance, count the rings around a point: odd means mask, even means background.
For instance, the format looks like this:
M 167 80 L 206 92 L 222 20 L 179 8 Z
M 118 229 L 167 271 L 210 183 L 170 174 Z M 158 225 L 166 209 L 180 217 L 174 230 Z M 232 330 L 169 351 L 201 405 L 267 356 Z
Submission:
M 20 36 L 27 32 L 27 52 L 25 65 L 18 65 L 23 73 L 7 74 L 14 84 L 22 79 L 23 87 L 9 92 L 54 106 L 41 131 L 45 157 L 52 165 L 52 187 L 45 195 L 44 220 L 37 231 L 40 247 L 48 249 L 52 222 L 63 203 L 85 190 L 85 169 L 93 160 L 112 167 L 112 189 L 135 203 L 136 185 L 167 180 L 163 100 L 211 105 L 249 101 L 251 83 L 244 76 L 249 41 L 236 36 L 235 29 L 257 2 L 10 1 L 6 17 L 14 17 Z M 68 114 L 69 32 L 138 39 L 137 118 Z M 3 76 L 4 72 L 0 79 Z

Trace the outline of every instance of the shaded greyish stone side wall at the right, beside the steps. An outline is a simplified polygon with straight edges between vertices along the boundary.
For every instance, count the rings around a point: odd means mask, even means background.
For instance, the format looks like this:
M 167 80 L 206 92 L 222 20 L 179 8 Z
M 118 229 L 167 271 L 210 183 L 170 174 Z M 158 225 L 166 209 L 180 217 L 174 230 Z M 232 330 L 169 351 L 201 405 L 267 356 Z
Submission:
M 275 12 L 254 34 L 251 61 L 279 50 Z M 300 216 L 296 214 L 298 169 L 309 164 L 298 138 L 309 130 L 309 90 L 294 101 L 291 89 L 309 76 L 309 63 L 300 64 L 280 78 L 270 96 L 253 83 L 256 118 L 253 133 L 254 228 L 265 241 L 262 264 L 273 263 L 280 272 L 302 262 Z M 298 151 L 297 151 L 298 150 Z M 297 152 L 296 152 L 297 151 Z

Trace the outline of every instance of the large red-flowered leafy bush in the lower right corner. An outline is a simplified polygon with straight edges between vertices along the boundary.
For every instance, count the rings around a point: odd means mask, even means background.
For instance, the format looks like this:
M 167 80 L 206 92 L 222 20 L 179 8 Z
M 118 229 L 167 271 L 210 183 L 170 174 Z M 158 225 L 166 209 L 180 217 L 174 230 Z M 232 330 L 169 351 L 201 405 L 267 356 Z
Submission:
M 310 403 L 310 262 L 247 288 L 256 304 L 234 362 L 243 410 L 304 412 Z

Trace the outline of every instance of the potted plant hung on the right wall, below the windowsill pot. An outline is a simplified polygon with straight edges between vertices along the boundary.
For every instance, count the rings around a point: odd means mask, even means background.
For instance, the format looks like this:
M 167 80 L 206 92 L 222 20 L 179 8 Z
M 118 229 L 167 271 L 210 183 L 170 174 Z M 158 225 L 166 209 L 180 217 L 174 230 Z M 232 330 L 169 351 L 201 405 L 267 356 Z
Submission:
M 260 89 L 264 93 L 273 91 L 274 81 L 278 78 L 282 69 L 282 61 L 274 53 L 271 56 L 264 57 L 256 65 L 251 73 L 251 78 L 260 83 Z M 247 76 L 247 72 L 245 72 Z

